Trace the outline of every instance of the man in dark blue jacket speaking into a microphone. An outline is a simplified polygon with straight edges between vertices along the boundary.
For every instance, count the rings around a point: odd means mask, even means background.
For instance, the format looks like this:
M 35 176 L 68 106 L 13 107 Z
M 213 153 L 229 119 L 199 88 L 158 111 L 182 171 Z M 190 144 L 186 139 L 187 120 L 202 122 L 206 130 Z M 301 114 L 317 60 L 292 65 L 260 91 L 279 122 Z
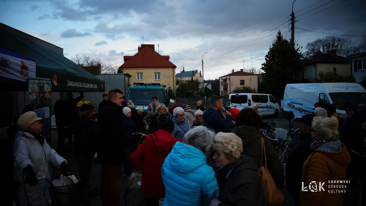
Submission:
M 219 132 L 229 132 L 232 126 L 231 113 L 226 111 L 225 116 L 221 113 L 223 98 L 214 95 L 210 100 L 211 108 L 207 109 L 203 115 L 203 126 L 212 129 L 216 134 Z

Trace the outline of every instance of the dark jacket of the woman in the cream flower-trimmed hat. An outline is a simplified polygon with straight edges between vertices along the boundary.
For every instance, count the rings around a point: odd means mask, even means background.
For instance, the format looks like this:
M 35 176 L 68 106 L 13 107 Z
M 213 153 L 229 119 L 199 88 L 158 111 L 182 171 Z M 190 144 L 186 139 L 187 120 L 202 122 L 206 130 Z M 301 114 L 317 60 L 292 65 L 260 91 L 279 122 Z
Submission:
M 219 206 L 264 206 L 266 200 L 258 175 L 257 163 L 246 155 L 216 171 L 220 188 Z

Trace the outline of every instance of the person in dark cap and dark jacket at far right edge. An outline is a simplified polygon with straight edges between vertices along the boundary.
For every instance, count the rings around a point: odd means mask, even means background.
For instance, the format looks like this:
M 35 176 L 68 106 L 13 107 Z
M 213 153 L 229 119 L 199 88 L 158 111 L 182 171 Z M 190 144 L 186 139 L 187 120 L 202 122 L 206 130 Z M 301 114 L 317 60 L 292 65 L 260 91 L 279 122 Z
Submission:
M 346 110 L 346 121 L 344 121 L 338 130 L 341 136 L 341 142 L 346 145 L 348 151 L 354 150 L 360 152 L 362 141 L 365 139 L 362 131 L 361 118 L 355 105 L 346 103 L 344 108 Z

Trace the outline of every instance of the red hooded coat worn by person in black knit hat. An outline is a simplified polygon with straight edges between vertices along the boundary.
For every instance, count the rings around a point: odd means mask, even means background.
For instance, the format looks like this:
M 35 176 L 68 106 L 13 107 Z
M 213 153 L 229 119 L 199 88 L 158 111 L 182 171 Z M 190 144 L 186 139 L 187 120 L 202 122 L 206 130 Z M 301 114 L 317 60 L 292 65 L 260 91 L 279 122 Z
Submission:
M 179 139 L 165 130 L 157 130 L 131 154 L 131 167 L 142 169 L 141 194 L 147 198 L 164 198 L 165 187 L 161 179 L 161 166 Z

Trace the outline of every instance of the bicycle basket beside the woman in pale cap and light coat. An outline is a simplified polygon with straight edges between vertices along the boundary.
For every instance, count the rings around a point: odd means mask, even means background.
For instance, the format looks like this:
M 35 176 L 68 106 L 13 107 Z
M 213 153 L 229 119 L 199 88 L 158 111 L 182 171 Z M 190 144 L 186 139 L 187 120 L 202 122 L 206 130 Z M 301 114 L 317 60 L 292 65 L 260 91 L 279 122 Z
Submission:
M 74 174 L 66 173 L 58 179 L 51 181 L 49 194 L 52 206 L 79 205 L 81 196 L 80 179 Z

